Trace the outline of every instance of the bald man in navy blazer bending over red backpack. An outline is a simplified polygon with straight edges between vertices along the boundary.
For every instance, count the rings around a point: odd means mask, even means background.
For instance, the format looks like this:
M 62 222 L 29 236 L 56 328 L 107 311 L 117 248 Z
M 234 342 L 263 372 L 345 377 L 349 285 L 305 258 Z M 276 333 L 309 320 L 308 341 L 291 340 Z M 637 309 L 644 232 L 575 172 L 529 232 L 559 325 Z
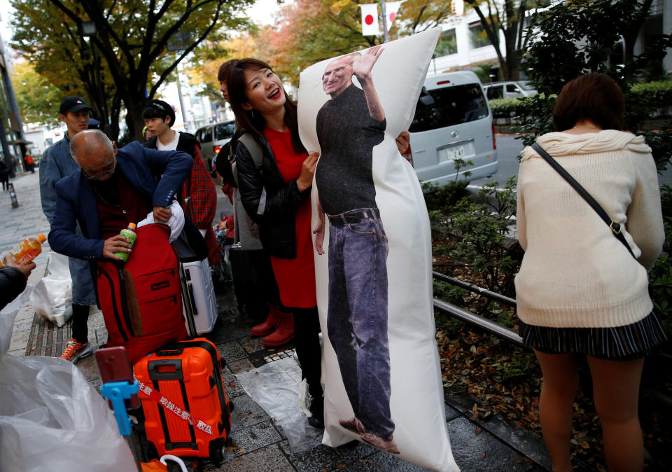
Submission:
M 144 219 L 148 211 L 157 223 L 168 221 L 167 207 L 189 175 L 193 159 L 179 151 L 145 148 L 137 141 L 118 150 L 99 130 L 79 132 L 70 151 L 81 169 L 56 184 L 48 239 L 52 250 L 89 261 L 94 277 L 98 259 L 121 260 L 113 253 L 131 251 L 119 235 L 128 223 Z M 77 234 L 76 223 L 83 235 Z

